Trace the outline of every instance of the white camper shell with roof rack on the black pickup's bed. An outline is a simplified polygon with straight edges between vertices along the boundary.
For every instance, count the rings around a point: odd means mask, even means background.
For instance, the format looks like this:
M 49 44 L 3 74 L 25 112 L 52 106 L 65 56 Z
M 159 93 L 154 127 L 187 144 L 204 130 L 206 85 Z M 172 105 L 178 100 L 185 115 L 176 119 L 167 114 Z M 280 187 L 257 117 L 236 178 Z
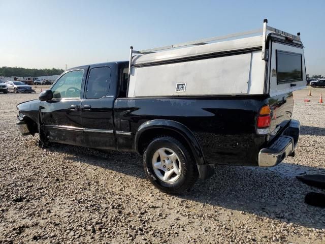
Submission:
M 257 36 L 243 38 L 252 34 Z M 300 34 L 265 20 L 262 29 L 246 33 L 142 51 L 131 47 L 127 96 L 273 97 L 303 88 L 306 79 Z

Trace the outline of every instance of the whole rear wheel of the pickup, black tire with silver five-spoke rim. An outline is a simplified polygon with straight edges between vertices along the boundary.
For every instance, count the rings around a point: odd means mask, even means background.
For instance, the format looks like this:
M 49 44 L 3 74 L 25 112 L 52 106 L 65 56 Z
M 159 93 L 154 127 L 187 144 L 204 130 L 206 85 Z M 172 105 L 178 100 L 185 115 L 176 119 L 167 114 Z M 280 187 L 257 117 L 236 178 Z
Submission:
M 148 179 L 162 192 L 180 194 L 198 179 L 198 169 L 190 150 L 173 137 L 162 136 L 147 146 L 143 166 Z

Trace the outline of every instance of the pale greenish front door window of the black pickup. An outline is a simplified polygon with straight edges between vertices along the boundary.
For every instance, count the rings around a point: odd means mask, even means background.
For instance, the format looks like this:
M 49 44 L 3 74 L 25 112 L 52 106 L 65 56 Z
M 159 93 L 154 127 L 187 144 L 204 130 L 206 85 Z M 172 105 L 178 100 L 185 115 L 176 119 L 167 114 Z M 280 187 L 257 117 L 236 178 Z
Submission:
M 80 98 L 83 70 L 64 74 L 52 87 L 53 98 Z

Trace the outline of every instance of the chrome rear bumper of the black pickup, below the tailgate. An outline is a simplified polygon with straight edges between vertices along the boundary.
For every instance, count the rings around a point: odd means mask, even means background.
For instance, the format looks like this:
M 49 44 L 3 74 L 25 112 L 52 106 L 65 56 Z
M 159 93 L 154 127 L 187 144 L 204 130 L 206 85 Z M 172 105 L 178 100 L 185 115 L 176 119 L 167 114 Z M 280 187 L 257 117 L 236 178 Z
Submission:
M 282 135 L 267 148 L 262 148 L 258 154 L 258 166 L 272 167 L 284 160 L 287 156 L 293 156 L 299 139 L 300 122 L 291 120 L 289 126 Z

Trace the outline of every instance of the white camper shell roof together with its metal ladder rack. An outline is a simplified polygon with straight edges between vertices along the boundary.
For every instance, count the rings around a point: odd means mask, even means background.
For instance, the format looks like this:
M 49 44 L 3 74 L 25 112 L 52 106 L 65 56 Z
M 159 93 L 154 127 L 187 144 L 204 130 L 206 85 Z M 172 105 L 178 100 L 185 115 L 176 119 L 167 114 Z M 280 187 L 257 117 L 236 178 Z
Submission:
M 212 53 L 231 52 L 237 50 L 262 49 L 262 59 L 267 59 L 267 39 L 270 34 L 275 34 L 293 43 L 299 43 L 300 33 L 293 35 L 280 29 L 269 26 L 264 19 L 263 28 L 248 32 L 234 33 L 221 37 L 205 38 L 197 41 L 173 44 L 170 46 L 136 51 L 130 47 L 129 71 L 132 66 L 143 66 L 156 63 L 174 62 L 177 59 L 191 58 Z M 262 35 L 261 35 L 262 34 Z M 245 36 L 250 35 L 251 37 Z M 255 35 L 255 36 L 252 36 Z M 221 41 L 222 40 L 222 41 Z M 227 41 L 225 41 L 227 40 Z M 221 42 L 220 42 L 221 41 Z M 136 56 L 133 56 L 136 54 Z

